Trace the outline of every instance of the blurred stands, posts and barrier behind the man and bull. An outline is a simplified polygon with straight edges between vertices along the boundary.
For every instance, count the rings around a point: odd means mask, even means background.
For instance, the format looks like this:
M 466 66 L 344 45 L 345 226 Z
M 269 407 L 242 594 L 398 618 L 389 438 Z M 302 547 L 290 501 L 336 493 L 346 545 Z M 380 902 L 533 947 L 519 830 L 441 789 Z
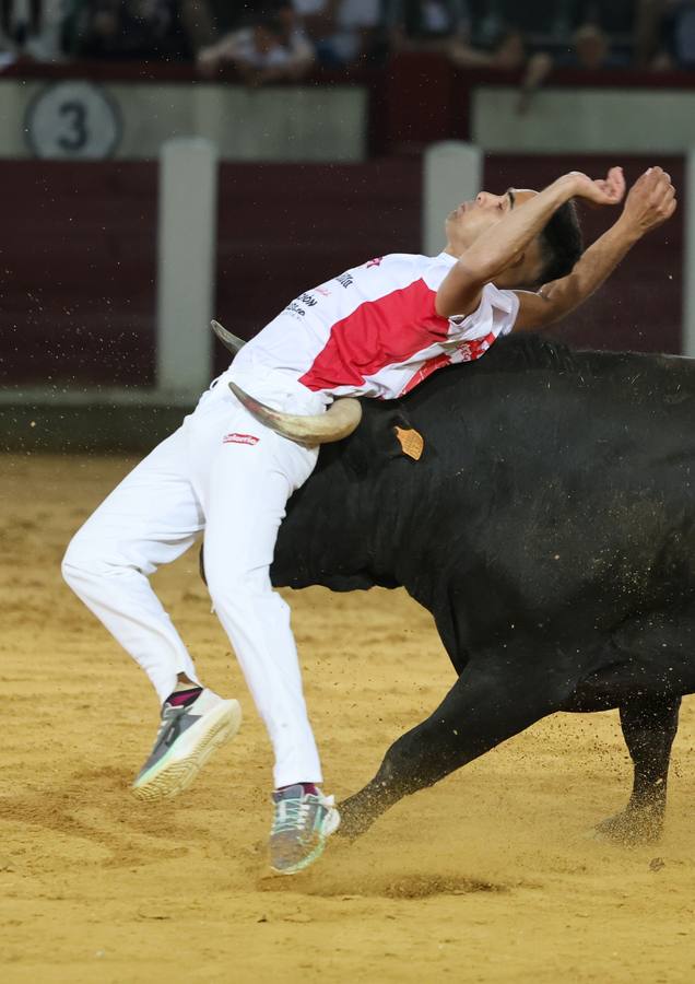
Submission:
M 675 218 L 556 333 L 695 354 L 695 0 L 0 0 L 4 449 L 149 447 L 228 362 L 211 316 L 437 251 L 443 143 L 451 208 L 665 167 Z

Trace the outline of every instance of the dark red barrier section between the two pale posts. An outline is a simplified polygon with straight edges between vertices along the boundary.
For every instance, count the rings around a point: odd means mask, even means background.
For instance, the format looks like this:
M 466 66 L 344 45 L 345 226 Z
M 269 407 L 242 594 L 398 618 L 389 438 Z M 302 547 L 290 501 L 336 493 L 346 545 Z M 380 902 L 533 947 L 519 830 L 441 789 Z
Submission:
M 421 165 L 238 165 L 221 169 L 220 320 L 255 335 L 308 286 L 420 246 Z M 217 350 L 217 366 L 224 364 Z

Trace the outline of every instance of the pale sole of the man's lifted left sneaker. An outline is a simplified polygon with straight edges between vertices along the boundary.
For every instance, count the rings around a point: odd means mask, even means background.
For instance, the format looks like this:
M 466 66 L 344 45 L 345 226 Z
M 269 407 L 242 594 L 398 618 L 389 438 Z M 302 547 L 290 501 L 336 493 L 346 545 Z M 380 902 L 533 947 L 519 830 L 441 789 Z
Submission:
M 190 786 L 212 753 L 234 738 L 240 724 L 239 702 L 223 701 L 181 736 L 179 742 L 185 742 L 184 748 L 175 746 L 152 772 L 131 786 L 133 796 L 145 801 L 178 796 Z

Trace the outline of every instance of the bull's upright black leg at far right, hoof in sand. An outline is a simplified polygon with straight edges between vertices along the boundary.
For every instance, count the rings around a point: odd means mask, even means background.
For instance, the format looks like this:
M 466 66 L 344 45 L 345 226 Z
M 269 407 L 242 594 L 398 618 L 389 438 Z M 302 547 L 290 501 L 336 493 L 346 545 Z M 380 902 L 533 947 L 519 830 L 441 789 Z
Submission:
M 623 735 L 635 765 L 633 793 L 621 813 L 598 824 L 599 836 L 624 844 L 649 844 L 661 836 L 680 706 L 680 696 L 643 696 L 621 706 Z

